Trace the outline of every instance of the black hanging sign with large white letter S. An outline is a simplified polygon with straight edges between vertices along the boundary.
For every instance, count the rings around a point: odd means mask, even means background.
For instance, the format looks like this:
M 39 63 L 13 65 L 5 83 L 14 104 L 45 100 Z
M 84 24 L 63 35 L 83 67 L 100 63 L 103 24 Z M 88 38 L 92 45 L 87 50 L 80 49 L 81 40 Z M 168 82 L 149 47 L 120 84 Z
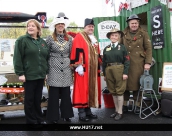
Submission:
M 164 48 L 164 28 L 162 6 L 151 9 L 152 46 L 154 49 Z

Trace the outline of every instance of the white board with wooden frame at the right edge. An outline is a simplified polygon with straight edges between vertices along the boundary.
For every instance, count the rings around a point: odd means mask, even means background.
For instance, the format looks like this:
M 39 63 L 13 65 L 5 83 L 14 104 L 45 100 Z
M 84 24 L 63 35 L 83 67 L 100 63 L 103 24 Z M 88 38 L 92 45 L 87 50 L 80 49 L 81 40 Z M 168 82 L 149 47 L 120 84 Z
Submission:
M 162 88 L 163 91 L 172 91 L 172 63 L 165 62 L 162 74 Z

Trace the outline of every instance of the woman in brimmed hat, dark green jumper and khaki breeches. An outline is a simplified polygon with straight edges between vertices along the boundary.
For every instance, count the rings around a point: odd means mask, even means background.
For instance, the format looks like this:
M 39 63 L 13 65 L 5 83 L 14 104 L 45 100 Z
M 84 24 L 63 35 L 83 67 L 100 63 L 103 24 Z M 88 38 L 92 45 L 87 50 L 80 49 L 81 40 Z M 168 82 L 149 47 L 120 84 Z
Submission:
M 107 38 L 111 40 L 111 44 L 103 50 L 104 80 L 110 93 L 113 95 L 115 103 L 115 113 L 110 117 L 115 120 L 122 118 L 123 94 L 126 90 L 126 80 L 130 64 L 126 47 L 118 43 L 120 36 L 123 36 L 123 32 L 118 29 L 108 32 Z

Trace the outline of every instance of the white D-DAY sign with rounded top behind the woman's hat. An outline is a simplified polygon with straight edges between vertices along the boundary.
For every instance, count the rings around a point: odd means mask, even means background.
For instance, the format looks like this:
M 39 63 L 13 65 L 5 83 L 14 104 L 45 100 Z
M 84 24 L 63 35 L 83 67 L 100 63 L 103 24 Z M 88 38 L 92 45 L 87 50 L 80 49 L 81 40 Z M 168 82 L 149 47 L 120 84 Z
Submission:
M 100 55 L 103 55 L 103 49 L 110 43 L 110 40 L 106 37 L 106 34 L 114 28 L 120 30 L 120 24 L 116 21 L 107 20 L 100 22 L 98 24 L 98 39 L 99 39 L 99 47 L 101 50 Z

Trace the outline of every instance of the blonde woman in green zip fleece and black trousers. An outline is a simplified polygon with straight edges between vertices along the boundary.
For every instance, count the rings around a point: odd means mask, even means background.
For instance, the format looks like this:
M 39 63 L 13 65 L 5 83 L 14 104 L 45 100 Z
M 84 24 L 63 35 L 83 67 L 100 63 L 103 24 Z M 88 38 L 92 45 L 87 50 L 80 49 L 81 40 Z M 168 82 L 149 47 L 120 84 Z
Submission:
M 26 34 L 15 42 L 14 70 L 24 83 L 24 111 L 27 124 L 46 124 L 41 110 L 44 80 L 48 73 L 49 49 L 40 37 L 41 26 L 35 19 L 26 24 Z

